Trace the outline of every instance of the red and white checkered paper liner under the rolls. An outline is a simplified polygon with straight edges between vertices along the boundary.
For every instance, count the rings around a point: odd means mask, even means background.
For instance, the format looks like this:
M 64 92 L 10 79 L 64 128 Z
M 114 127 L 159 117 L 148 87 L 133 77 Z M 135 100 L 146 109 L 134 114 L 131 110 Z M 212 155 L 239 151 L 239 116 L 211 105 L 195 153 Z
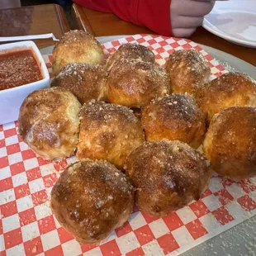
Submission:
M 199 50 L 212 78 L 225 73 L 210 55 L 190 40 L 135 35 L 108 42 L 106 53 L 126 42 L 154 50 L 159 64 L 173 50 Z M 51 72 L 51 56 L 44 56 Z M 50 190 L 75 157 L 45 161 L 21 141 L 17 122 L 0 126 L 0 255 L 177 255 L 256 214 L 256 178 L 235 183 L 214 174 L 199 201 L 164 218 L 134 209 L 126 224 L 101 245 L 79 245 L 50 210 Z

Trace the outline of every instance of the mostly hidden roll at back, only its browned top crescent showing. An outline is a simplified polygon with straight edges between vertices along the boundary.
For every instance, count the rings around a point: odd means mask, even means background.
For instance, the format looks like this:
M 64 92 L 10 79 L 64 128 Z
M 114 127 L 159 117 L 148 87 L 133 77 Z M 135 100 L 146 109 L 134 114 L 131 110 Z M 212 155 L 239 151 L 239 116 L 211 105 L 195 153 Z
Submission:
M 154 63 L 154 53 L 144 45 L 130 43 L 121 45 L 118 50 L 108 57 L 107 70 L 110 70 L 112 65 L 120 59 L 137 59 Z

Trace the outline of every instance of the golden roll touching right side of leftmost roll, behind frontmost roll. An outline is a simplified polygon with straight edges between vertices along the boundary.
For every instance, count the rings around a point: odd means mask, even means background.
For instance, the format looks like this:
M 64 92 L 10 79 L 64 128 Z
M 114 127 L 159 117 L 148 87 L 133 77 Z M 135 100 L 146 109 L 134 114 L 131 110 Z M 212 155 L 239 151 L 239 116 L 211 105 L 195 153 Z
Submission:
M 92 101 L 83 105 L 80 116 L 78 159 L 105 159 L 122 168 L 144 142 L 140 121 L 128 107 Z

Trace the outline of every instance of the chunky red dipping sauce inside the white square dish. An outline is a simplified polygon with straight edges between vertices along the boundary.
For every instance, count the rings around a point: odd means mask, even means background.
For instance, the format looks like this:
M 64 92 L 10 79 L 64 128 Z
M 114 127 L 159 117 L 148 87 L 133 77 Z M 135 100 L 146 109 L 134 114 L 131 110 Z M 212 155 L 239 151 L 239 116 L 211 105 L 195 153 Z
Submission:
M 43 79 L 32 50 L 0 53 L 0 91 Z

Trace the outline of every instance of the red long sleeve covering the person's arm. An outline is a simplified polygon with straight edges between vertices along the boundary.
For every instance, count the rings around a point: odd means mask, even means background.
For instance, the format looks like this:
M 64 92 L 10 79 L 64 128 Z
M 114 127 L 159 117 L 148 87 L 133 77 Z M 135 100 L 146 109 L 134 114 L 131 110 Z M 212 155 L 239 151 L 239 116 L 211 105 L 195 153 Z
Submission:
M 171 0 L 73 0 L 100 12 L 113 12 L 122 20 L 146 26 L 163 36 L 172 36 Z

